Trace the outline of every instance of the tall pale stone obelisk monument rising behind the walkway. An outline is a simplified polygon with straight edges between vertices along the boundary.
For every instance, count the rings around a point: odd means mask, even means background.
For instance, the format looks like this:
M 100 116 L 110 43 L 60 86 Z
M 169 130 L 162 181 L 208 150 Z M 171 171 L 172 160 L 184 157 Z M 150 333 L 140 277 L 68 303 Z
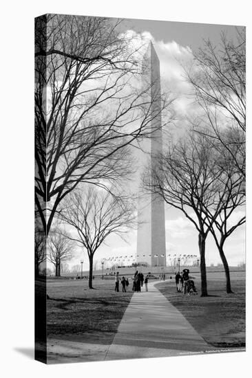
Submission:
M 156 164 L 156 155 L 162 152 L 160 63 L 153 44 L 150 42 L 143 61 L 144 73 L 150 83 L 151 137 L 143 142 L 139 177 L 148 159 L 151 167 Z M 141 172 L 142 170 L 142 172 Z M 149 265 L 166 266 L 165 252 L 165 202 L 157 194 L 147 193 L 139 182 L 137 261 Z

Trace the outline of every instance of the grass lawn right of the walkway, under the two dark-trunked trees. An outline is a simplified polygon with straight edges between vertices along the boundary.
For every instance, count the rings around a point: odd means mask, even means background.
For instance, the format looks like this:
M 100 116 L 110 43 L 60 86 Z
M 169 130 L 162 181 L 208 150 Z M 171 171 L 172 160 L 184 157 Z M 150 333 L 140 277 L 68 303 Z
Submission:
M 195 282 L 199 289 L 199 280 Z M 200 292 L 197 296 L 177 293 L 175 282 L 160 283 L 156 287 L 204 340 L 216 347 L 230 348 L 245 346 L 245 280 L 233 275 L 231 285 L 235 293 L 227 294 L 224 277 L 209 275 L 207 298 L 200 298 Z

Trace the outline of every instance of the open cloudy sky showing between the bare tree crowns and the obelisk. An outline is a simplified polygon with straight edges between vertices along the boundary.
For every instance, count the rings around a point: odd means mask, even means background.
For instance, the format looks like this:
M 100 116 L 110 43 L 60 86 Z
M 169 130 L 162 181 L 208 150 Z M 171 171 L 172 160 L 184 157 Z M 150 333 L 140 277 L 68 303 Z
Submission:
M 161 87 L 169 90 L 177 98 L 176 112 L 179 118 L 192 111 L 190 87 L 185 82 L 182 67 L 190 65 L 192 51 L 202 47 L 203 39 L 210 39 L 216 45 L 220 42 L 220 33 L 229 38 L 235 36 L 235 27 L 227 25 L 207 25 L 200 23 L 176 23 L 165 21 L 125 20 L 120 25 L 121 32 L 134 36 L 136 43 L 142 38 L 154 43 L 160 59 Z M 138 41 L 138 42 L 137 42 Z M 182 122 L 179 123 L 182 127 Z M 242 213 L 238 210 L 237 216 Z M 198 234 L 194 225 L 179 210 L 165 207 L 165 230 L 167 254 L 198 254 Z M 228 239 L 225 251 L 230 265 L 238 265 L 245 258 L 244 226 L 239 227 Z M 128 243 L 119 236 L 110 236 L 106 244 L 96 252 L 94 260 L 110 256 L 136 255 L 136 231 L 128 235 Z M 72 260 L 74 265 L 83 258 L 83 251 Z M 220 257 L 211 235 L 207 240 L 207 265 L 220 263 Z M 84 269 L 87 269 L 87 255 L 84 254 Z

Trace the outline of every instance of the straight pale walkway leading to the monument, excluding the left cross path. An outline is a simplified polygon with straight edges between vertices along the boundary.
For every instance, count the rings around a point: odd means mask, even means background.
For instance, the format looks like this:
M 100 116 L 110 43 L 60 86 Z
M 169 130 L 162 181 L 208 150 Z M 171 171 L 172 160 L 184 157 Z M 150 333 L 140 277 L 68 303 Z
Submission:
M 154 285 L 134 293 L 105 359 L 165 357 L 212 349 Z

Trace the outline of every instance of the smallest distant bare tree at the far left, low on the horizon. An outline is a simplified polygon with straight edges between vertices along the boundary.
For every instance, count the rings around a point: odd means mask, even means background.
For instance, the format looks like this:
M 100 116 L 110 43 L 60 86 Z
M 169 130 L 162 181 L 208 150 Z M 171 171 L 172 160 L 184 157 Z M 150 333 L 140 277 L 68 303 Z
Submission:
M 61 231 L 51 233 L 48 241 L 48 259 L 55 267 L 55 276 L 61 276 L 61 263 L 72 258 L 73 243 Z

